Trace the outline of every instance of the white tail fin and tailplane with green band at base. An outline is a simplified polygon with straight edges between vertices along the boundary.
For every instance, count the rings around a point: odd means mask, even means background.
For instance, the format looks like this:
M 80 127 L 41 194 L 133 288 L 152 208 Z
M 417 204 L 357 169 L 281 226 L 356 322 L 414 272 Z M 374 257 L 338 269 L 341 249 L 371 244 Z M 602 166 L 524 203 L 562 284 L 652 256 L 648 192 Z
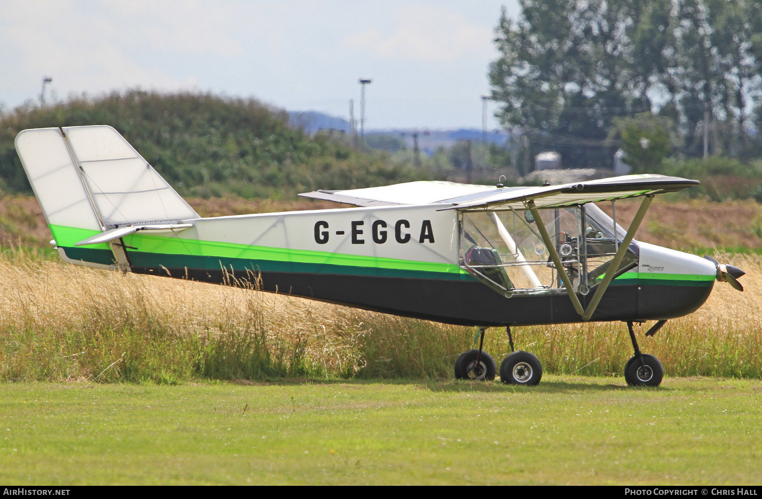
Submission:
M 199 218 L 110 126 L 28 129 L 16 151 L 62 258 L 129 270 L 120 237 Z

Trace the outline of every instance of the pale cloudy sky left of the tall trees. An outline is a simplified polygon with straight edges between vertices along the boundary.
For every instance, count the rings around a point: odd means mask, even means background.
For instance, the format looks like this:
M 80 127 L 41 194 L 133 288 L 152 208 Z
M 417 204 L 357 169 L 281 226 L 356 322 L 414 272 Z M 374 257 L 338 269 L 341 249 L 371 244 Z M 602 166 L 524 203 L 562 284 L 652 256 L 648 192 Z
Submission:
M 0 105 L 50 76 L 49 102 L 142 87 L 345 118 L 354 99 L 359 119 L 362 77 L 368 129 L 481 128 L 502 5 L 517 17 L 517 0 L 0 0 Z

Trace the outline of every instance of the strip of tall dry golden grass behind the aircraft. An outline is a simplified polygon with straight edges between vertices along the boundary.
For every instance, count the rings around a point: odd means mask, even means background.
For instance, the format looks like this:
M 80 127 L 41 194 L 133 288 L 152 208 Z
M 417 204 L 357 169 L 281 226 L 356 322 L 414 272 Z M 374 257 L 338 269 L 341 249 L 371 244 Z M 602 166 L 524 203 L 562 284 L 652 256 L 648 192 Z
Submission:
M 672 376 L 762 376 L 759 256 L 716 255 L 748 272 L 691 316 L 639 335 Z M 642 326 L 641 331 L 645 331 Z M 0 380 L 180 383 L 276 377 L 447 377 L 475 329 L 248 289 L 122 275 L 24 250 L 0 255 Z M 549 373 L 621 373 L 622 323 L 515 328 Z M 505 333 L 489 329 L 498 363 Z

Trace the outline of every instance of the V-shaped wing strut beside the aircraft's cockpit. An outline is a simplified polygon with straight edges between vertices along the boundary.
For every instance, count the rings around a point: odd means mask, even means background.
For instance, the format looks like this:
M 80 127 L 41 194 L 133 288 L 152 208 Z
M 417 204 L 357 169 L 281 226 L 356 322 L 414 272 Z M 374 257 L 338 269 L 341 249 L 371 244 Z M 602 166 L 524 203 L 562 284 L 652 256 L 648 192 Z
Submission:
M 643 202 L 641 203 L 640 208 L 638 208 L 638 212 L 636 213 L 635 218 L 633 218 L 632 222 L 629 224 L 629 229 L 627 229 L 627 234 L 625 235 L 624 239 L 620 243 L 619 250 L 616 250 L 616 254 L 614 255 L 614 258 L 611 260 L 609 264 L 610 270 L 606 272 L 606 277 L 604 277 L 604 280 L 601 281 L 600 284 L 598 284 L 597 289 L 595 290 L 595 294 L 593 294 L 593 297 L 590 300 L 590 303 L 588 304 L 587 310 L 582 308 L 582 304 L 580 303 L 579 298 L 577 297 L 577 294 L 575 293 L 574 289 L 571 288 L 571 279 L 568 277 L 568 274 L 566 274 L 566 269 L 564 269 L 561 263 L 561 259 L 559 258 L 559 253 L 555 251 L 555 246 L 553 245 L 553 242 L 550 239 L 548 230 L 545 228 L 543 219 L 540 218 L 539 216 L 539 211 L 534 205 L 534 200 L 530 200 L 529 202 L 527 202 L 527 208 L 529 208 L 530 212 L 532 213 L 532 216 L 537 222 L 537 230 L 539 230 L 539 235 L 543 237 L 543 242 L 545 243 L 545 246 L 548 248 L 550 257 L 553 260 L 553 264 L 555 265 L 556 272 L 559 272 L 559 277 L 561 277 L 561 280 L 564 282 L 564 285 L 566 287 L 566 293 L 571 298 L 571 304 L 574 305 L 575 310 L 577 310 L 577 313 L 582 317 L 582 320 L 590 320 L 590 318 L 593 316 L 593 313 L 595 312 L 595 309 L 598 307 L 598 304 L 600 303 L 600 299 L 604 297 L 604 293 L 609 287 L 611 280 L 614 278 L 616 269 L 619 269 L 619 265 L 622 262 L 622 259 L 624 258 L 624 255 L 627 252 L 627 249 L 629 248 L 629 243 L 632 242 L 632 237 L 635 237 L 635 233 L 638 230 L 638 227 L 640 227 L 640 223 L 643 221 L 643 218 L 645 218 L 645 212 L 648 211 L 648 207 L 651 205 L 653 197 L 654 195 L 650 194 L 650 195 L 646 195 L 645 198 L 643 199 Z

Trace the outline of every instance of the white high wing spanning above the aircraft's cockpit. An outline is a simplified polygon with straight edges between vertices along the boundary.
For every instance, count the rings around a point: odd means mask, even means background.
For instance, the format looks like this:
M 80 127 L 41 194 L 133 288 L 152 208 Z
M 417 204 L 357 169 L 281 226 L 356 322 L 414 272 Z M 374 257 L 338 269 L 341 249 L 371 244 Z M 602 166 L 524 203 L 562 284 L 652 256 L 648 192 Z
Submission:
M 655 174 L 615 176 L 558 186 L 495 187 L 453 182 L 408 182 L 366 189 L 318 190 L 299 194 L 355 206 L 449 205 L 440 209 L 522 209 L 533 199 L 537 208 L 583 205 L 642 195 L 674 192 L 698 180 Z

